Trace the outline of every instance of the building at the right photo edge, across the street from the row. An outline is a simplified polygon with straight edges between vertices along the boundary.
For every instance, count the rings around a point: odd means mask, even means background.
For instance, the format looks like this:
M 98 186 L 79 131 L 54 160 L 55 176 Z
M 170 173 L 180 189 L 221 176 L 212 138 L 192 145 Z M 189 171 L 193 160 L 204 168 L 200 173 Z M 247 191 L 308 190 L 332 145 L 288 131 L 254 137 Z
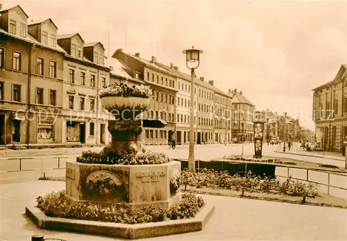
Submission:
M 325 150 L 339 151 L 347 136 L 347 65 L 341 65 L 332 81 L 314 88 L 313 92 L 315 132 L 323 133 L 316 142 Z

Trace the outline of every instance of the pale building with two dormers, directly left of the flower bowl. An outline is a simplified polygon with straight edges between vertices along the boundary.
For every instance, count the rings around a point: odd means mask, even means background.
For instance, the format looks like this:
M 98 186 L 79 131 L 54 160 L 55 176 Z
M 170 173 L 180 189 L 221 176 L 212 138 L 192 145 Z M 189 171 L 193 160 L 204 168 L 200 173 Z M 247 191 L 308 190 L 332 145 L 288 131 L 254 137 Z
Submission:
M 62 143 L 105 144 L 110 115 L 101 106 L 99 90 L 109 84 L 103 44 L 85 43 L 78 33 L 58 36 L 64 58 Z

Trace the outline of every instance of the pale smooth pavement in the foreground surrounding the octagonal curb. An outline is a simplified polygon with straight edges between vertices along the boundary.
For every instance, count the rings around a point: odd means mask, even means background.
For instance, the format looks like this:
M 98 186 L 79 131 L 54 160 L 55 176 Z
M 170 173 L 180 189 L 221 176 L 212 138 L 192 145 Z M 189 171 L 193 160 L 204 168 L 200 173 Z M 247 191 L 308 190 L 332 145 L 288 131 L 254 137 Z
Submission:
M 45 238 L 119 240 L 95 235 L 40 230 L 26 219 L 25 206 L 38 195 L 65 188 L 63 182 L 32 181 L 1 185 L 0 240 Z M 347 240 L 347 210 L 273 201 L 203 196 L 216 211 L 203 231 L 146 240 Z

